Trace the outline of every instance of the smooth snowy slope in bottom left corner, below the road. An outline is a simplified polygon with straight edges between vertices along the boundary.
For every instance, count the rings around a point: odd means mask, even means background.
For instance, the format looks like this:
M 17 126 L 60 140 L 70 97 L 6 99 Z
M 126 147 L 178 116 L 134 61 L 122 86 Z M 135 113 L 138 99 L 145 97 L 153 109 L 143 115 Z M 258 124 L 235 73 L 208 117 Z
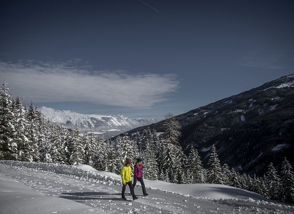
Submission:
M 0 207 L 5 214 L 105 213 L 74 201 L 45 196 L 5 175 L 0 175 Z

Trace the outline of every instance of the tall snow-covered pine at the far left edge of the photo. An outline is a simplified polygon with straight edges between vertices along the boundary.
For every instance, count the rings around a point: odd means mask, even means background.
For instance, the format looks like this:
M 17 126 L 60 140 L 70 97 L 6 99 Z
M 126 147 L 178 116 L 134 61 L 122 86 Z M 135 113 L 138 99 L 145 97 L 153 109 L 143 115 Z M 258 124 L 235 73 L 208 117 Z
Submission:
M 15 121 L 13 101 L 6 86 L 4 81 L 0 89 L 0 159 L 16 160 L 17 144 L 14 141 L 15 129 L 12 124 Z

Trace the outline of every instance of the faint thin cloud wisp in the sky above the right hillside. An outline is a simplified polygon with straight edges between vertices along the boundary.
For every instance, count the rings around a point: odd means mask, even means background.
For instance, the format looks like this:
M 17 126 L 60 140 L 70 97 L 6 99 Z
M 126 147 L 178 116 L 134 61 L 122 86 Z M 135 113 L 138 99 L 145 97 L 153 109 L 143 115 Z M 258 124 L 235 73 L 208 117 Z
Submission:
M 276 54 L 250 53 L 244 56 L 240 62 L 241 66 L 255 67 L 261 69 L 283 69 L 279 64 L 280 56 Z

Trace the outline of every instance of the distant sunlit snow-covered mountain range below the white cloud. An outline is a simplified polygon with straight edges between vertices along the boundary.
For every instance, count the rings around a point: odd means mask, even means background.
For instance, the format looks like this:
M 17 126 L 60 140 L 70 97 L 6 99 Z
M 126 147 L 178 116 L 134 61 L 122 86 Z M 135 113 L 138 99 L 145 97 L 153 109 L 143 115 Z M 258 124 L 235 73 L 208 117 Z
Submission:
M 75 124 L 80 130 L 89 131 L 92 128 L 96 134 L 105 137 L 115 136 L 124 131 L 158 122 L 158 119 L 130 119 L 124 115 L 97 115 L 81 114 L 73 110 L 57 110 L 50 107 L 40 107 L 39 110 L 50 121 L 68 128 L 74 128 Z

